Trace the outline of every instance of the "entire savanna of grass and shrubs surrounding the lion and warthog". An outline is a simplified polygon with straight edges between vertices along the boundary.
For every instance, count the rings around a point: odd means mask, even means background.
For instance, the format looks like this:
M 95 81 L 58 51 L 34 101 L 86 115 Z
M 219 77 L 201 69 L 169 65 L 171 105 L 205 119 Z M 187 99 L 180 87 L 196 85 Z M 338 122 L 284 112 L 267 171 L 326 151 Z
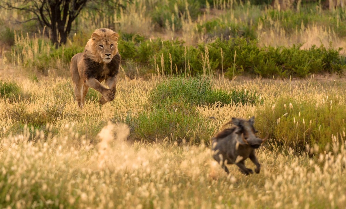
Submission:
M 66 42 L 0 3 L 2 208 L 345 206 L 343 7 L 100 2 L 85 1 Z M 80 109 L 69 62 L 100 27 L 120 35 L 117 93 L 100 105 L 90 89 Z M 210 138 L 251 116 L 269 134 L 261 173 L 227 176 Z

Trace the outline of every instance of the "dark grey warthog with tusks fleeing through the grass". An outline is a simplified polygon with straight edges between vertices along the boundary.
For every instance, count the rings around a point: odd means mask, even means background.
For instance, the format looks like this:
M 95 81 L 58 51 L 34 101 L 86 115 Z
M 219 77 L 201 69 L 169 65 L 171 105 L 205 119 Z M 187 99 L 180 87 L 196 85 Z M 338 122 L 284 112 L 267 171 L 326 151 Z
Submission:
M 213 158 L 221 164 L 221 167 L 229 173 L 226 164 L 236 164 L 242 173 L 248 175 L 253 173 L 252 169 L 245 167 L 244 161 L 250 158 L 256 165 L 255 172 L 260 173 L 261 164 L 255 155 L 255 149 L 268 138 L 260 139 L 255 133 L 255 117 L 249 120 L 232 118 L 225 125 L 233 124 L 231 128 L 220 131 L 211 140 Z M 224 126 L 225 126 L 224 125 Z

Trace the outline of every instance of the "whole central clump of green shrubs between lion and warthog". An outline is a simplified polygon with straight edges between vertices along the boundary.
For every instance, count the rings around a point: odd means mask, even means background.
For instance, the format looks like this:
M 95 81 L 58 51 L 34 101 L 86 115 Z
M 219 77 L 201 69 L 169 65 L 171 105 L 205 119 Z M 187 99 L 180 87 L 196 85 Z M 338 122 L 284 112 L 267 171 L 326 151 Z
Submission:
M 245 94 L 244 90 L 234 90 L 228 94 L 214 90 L 210 79 L 202 76 L 185 78 L 171 77 L 161 81 L 152 90 L 148 98 L 148 111 L 139 113 L 137 119 L 127 123 L 134 130 L 134 138 L 155 141 L 164 139 L 190 143 L 207 141 L 214 132 L 209 128 L 209 119 L 199 115 L 197 105 L 257 104 L 259 98 L 255 93 Z M 263 103 L 263 101 L 260 101 Z M 134 122 L 135 121 L 135 122 Z

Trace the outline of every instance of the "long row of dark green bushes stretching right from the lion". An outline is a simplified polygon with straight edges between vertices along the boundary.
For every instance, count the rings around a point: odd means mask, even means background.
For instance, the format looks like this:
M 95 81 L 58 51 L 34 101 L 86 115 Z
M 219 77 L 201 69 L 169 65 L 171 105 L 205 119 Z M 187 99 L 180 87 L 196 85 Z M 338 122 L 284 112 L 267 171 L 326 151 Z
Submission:
M 312 46 L 301 50 L 301 45 L 292 47 L 258 47 L 256 40 L 243 37 L 230 38 L 227 41 L 217 39 L 208 44 L 199 44 L 198 48 L 184 46 L 182 41 L 162 41 L 160 39 L 139 43 L 126 42 L 120 46 L 122 58 L 132 59 L 140 66 L 157 68 L 167 75 L 189 73 L 198 75 L 203 72 L 202 55 L 209 57 L 212 71 L 225 72 L 232 78 L 235 63 L 235 74 L 261 75 L 263 77 L 305 77 L 310 73 L 342 72 L 345 68 L 345 55 L 342 49 Z M 206 47 L 208 53 L 206 52 Z M 221 49 L 223 57 L 221 58 Z M 234 62 L 234 53 L 236 59 Z M 186 52 L 186 53 L 185 53 Z M 128 54 L 128 55 L 126 55 Z M 163 66 L 161 64 L 163 58 Z M 172 64 L 171 64 L 172 60 Z M 221 62 L 222 60 L 222 62 Z M 156 66 L 155 66 L 156 63 Z M 222 65 L 221 65 L 222 64 Z

